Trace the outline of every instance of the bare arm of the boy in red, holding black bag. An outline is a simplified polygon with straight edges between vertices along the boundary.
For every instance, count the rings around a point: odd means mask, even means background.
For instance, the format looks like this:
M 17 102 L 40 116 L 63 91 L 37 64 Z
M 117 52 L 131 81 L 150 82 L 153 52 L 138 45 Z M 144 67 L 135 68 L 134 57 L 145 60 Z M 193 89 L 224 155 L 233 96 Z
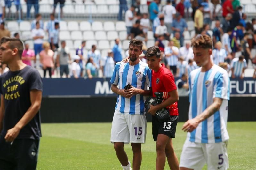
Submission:
M 157 110 L 160 110 L 162 108 L 165 108 L 167 106 L 170 106 L 171 104 L 175 103 L 176 101 L 179 100 L 179 95 L 178 95 L 178 91 L 173 90 L 171 92 L 168 92 L 169 96 L 166 100 L 164 100 L 163 103 L 153 106 L 150 106 L 150 109 L 148 110 L 148 113 L 150 113 L 151 115 L 155 115 Z

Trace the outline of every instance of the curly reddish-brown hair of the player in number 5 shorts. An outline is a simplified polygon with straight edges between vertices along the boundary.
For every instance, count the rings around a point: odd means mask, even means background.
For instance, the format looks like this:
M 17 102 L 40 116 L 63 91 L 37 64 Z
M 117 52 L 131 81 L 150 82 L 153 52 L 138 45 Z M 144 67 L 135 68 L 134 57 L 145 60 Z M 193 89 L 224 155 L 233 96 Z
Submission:
M 209 35 L 198 34 L 191 40 L 191 46 L 194 48 L 210 48 L 212 49 L 212 39 Z

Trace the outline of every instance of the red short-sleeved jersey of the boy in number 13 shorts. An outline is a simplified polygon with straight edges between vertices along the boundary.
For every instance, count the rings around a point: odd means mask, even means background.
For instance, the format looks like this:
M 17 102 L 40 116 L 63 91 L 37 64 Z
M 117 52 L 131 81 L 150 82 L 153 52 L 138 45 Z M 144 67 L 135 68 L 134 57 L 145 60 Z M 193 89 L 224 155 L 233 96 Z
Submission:
M 177 89 L 172 72 L 165 68 L 164 64 L 162 64 L 162 67 L 157 72 L 152 70 L 151 84 L 153 97 L 156 97 L 155 92 L 171 92 Z M 168 95 L 168 97 L 170 96 Z M 178 104 L 175 102 L 166 108 L 169 110 L 170 115 L 179 115 L 177 107 Z

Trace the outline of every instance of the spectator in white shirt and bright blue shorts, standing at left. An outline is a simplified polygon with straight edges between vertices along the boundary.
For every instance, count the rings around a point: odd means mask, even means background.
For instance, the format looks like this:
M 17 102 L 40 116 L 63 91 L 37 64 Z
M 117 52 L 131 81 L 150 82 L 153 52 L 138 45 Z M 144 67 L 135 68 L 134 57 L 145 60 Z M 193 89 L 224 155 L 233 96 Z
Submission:
M 32 38 L 34 40 L 34 50 L 35 50 L 35 62 L 36 62 L 36 55 L 39 54 L 43 48 L 43 38 L 44 38 L 44 30 L 40 28 L 40 22 L 36 21 L 36 28 L 32 30 Z

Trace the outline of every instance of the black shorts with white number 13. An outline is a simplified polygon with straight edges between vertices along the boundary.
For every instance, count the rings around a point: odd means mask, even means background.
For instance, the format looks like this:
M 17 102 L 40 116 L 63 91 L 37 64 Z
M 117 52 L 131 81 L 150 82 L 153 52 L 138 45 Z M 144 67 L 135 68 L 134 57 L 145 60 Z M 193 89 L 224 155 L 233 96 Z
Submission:
M 152 116 L 152 134 L 154 141 L 156 141 L 158 134 L 175 138 L 178 120 L 179 116 L 170 116 L 166 122 L 159 122 L 156 116 Z

